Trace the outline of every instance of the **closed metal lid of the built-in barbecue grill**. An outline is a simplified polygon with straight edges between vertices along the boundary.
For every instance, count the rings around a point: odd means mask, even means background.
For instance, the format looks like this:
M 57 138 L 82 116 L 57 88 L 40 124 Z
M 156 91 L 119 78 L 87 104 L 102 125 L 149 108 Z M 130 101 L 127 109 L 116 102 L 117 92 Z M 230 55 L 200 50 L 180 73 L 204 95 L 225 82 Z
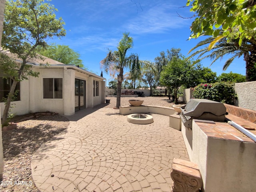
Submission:
M 200 117 L 203 113 L 212 113 L 216 116 L 226 114 L 226 107 L 223 103 L 208 99 L 190 99 L 186 106 L 182 107 L 183 114 L 191 117 Z

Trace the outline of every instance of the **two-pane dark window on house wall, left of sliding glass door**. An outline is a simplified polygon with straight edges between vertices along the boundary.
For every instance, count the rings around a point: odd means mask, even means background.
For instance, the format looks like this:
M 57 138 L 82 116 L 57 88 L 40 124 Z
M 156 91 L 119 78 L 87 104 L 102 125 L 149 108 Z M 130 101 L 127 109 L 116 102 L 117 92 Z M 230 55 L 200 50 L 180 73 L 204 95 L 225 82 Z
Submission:
M 62 78 L 43 78 L 44 99 L 62 99 Z

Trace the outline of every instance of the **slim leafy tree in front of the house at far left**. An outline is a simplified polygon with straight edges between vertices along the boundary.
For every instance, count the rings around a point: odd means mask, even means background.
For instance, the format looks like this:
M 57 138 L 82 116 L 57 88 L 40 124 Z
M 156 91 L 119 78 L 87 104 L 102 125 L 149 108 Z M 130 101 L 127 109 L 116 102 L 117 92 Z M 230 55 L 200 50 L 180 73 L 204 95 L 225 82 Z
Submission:
M 66 35 L 64 22 L 62 18 L 56 19 L 55 11 L 57 9 L 53 5 L 44 3 L 43 0 L 6 1 L 2 47 L 15 54 L 22 63 L 19 67 L 16 66 L 18 70 L 12 68 L 8 71 L 13 83 L 4 108 L 3 125 L 6 124 L 17 82 L 27 79 L 28 75 L 38 76 L 38 73 L 30 70 L 28 59 L 38 57 L 36 48 L 45 48 L 47 39 Z M 0 68 L 6 74 L 2 63 Z

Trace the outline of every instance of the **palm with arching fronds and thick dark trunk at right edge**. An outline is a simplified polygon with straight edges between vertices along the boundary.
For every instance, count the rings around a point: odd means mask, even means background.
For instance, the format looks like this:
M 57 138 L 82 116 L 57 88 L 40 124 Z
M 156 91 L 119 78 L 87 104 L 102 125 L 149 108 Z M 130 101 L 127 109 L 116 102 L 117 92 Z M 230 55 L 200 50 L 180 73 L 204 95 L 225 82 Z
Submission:
M 200 46 L 205 46 L 193 54 L 191 54 L 189 58 L 199 54 L 199 60 L 204 58 L 212 59 L 212 63 L 214 63 L 219 58 L 223 58 L 225 55 L 230 55 L 231 57 L 226 60 L 223 70 L 226 70 L 228 66 L 233 62 L 236 57 L 244 56 L 244 60 L 246 62 L 246 81 L 255 81 L 256 80 L 256 40 L 254 38 L 244 39 L 242 45 L 238 44 L 239 39 L 234 39 L 230 42 L 220 34 L 218 37 L 209 37 L 205 40 L 200 41 L 194 48 L 192 48 L 188 53 L 192 52 L 196 48 Z M 207 54 L 203 56 L 204 54 Z

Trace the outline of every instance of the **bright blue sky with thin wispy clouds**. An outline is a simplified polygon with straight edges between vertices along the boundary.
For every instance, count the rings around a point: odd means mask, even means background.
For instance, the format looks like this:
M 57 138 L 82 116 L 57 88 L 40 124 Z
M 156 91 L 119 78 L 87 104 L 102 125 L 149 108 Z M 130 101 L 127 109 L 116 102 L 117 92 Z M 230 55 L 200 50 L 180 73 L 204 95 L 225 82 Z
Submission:
M 66 36 L 54 42 L 68 45 L 80 54 L 84 66 L 100 75 L 100 61 L 108 49 L 116 46 L 124 32 L 130 32 L 134 47 L 130 53 L 137 53 L 140 60 L 154 62 L 161 51 L 180 48 L 184 56 L 201 38 L 187 40 L 190 36 L 192 19 L 180 18 L 192 15 L 186 0 L 52 0 L 57 9 L 56 17 L 62 17 L 66 25 Z M 210 60 L 201 64 L 221 74 L 225 58 L 210 66 Z M 245 62 L 235 60 L 225 72 L 245 75 Z M 110 76 L 103 72 L 108 80 Z

